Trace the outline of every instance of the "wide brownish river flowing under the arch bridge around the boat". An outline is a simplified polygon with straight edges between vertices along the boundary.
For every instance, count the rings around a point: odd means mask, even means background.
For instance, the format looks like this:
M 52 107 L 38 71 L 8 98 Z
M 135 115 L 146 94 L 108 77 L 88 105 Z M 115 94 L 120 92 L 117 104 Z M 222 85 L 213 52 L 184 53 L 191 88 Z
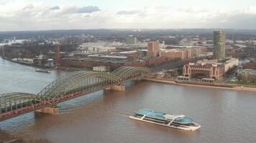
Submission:
M 36 94 L 63 74 L 35 72 L 34 67 L 0 58 L 0 93 Z M 59 115 L 29 113 L 0 122 L 0 129 L 24 139 L 42 138 L 52 143 L 256 142 L 255 92 L 146 81 L 128 82 L 126 86 L 126 92 L 94 92 L 58 104 Z M 187 132 L 127 118 L 138 109 L 186 114 L 202 127 Z

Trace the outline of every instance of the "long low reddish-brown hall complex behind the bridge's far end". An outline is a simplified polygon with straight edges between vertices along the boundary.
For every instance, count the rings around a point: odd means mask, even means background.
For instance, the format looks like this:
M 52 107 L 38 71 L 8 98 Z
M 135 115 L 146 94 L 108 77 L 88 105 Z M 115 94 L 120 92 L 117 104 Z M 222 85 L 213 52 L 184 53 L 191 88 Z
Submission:
M 140 56 L 145 51 L 122 51 L 111 54 L 85 54 L 68 56 L 60 60 L 60 66 L 93 68 L 94 66 L 108 66 L 111 70 L 120 66 L 154 66 L 163 64 L 167 59 L 159 56 Z

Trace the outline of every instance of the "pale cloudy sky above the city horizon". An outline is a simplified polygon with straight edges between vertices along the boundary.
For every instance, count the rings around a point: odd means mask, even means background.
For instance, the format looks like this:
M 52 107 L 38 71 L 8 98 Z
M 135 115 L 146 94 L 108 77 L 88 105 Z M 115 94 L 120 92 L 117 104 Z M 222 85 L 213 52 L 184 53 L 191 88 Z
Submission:
M 0 0 L 0 31 L 256 29 L 256 0 Z

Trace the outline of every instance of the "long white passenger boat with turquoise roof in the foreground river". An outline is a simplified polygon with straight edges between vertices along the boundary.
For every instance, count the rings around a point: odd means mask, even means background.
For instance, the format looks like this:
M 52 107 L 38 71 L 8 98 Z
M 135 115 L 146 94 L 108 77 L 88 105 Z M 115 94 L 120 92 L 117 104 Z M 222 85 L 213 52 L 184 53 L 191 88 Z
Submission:
M 140 111 L 135 112 L 134 115 L 129 116 L 129 118 L 188 131 L 195 131 L 201 127 L 199 124 L 193 122 L 190 117 L 186 117 L 185 115 L 165 114 L 161 112 L 155 112 L 150 109 L 141 109 Z

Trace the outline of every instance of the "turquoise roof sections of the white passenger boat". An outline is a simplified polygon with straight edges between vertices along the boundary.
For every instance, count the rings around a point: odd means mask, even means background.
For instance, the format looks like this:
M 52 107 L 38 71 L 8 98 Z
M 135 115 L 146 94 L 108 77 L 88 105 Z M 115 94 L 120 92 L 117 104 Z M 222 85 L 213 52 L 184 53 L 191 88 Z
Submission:
M 140 109 L 137 112 L 137 114 L 143 114 L 143 115 L 146 115 L 148 117 L 167 120 L 165 118 L 165 115 L 166 115 L 165 113 L 155 112 L 154 110 L 151 110 L 151 109 Z M 178 117 L 179 115 L 171 115 L 171 116 Z M 183 118 L 175 119 L 175 122 L 178 122 L 180 124 L 189 124 L 189 123 L 193 122 L 193 119 L 191 119 L 190 117 L 183 117 Z

